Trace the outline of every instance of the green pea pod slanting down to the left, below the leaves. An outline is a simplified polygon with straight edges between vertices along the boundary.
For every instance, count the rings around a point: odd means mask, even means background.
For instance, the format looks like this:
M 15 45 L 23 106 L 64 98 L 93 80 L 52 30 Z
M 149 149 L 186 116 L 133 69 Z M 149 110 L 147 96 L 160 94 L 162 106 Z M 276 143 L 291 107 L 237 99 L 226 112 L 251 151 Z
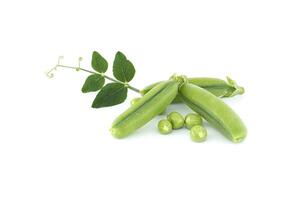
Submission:
M 124 138 L 162 113 L 178 94 L 179 81 L 164 81 L 153 87 L 112 124 L 111 133 Z

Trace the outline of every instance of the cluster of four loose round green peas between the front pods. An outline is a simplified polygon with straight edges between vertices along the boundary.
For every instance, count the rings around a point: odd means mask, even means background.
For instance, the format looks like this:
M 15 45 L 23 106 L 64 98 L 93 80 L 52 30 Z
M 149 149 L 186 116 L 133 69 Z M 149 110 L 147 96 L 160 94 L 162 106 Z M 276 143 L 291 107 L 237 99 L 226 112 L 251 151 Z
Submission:
M 161 134 L 170 134 L 172 130 L 183 128 L 190 130 L 190 138 L 195 142 L 203 142 L 207 138 L 207 130 L 202 126 L 203 119 L 199 114 L 189 113 L 185 118 L 178 112 L 171 112 L 167 119 L 158 122 L 158 129 Z

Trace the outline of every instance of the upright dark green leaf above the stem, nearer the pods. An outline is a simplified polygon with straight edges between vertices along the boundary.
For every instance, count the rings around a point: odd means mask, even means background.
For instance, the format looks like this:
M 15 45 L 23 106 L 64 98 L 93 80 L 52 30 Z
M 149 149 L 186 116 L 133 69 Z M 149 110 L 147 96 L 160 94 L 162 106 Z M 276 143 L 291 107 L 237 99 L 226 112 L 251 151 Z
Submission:
M 115 55 L 113 74 L 117 80 L 122 82 L 130 82 L 135 75 L 134 65 L 120 51 Z

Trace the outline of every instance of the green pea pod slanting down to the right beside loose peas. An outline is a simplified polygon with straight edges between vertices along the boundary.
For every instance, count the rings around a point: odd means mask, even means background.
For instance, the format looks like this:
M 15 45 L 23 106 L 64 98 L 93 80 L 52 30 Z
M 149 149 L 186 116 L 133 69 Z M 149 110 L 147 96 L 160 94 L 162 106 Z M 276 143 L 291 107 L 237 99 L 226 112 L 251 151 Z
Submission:
M 246 137 L 247 128 L 240 117 L 212 93 L 186 83 L 180 87 L 179 94 L 185 104 L 203 116 L 231 141 L 237 143 Z

